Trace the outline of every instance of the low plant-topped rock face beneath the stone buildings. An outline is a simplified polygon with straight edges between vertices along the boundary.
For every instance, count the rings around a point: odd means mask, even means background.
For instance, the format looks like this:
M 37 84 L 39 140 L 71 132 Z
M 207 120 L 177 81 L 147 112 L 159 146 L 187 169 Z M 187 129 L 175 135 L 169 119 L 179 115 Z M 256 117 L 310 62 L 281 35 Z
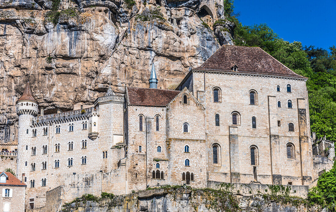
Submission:
M 158 189 L 114 199 L 76 201 L 62 206 L 76 212 L 317 212 L 325 211 L 299 198 L 280 196 L 239 196 L 216 190 Z M 61 211 L 61 209 L 59 208 Z

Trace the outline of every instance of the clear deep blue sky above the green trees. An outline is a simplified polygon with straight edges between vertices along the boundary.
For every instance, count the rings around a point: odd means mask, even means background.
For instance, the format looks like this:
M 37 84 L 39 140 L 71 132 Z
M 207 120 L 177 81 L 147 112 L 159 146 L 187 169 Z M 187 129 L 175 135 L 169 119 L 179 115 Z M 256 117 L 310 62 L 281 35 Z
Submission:
M 243 25 L 266 23 L 286 41 L 303 46 L 336 46 L 336 0 L 235 0 Z

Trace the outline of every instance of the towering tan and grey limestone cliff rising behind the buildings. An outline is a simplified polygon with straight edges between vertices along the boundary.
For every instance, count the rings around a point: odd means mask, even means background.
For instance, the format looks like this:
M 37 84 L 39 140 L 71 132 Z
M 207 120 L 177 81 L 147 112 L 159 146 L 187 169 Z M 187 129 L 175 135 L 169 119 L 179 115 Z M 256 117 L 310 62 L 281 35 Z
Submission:
M 222 44 L 234 24 L 205 0 L 0 0 L 0 142 L 16 141 L 15 101 L 31 83 L 51 112 L 91 104 L 107 91 L 175 88 Z M 225 29 L 224 29 L 225 28 Z

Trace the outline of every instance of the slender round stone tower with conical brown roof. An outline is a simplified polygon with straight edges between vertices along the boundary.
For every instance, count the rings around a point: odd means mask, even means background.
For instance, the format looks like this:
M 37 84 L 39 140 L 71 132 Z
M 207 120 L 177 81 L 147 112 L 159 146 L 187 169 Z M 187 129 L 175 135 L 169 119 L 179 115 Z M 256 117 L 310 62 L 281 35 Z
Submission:
M 16 113 L 19 116 L 16 174 L 17 178 L 20 180 L 22 179 L 23 182 L 25 182 L 25 177 L 27 177 L 25 183 L 28 185 L 31 161 L 30 142 L 32 138 L 32 129 L 30 125 L 31 119 L 38 113 L 38 102 L 32 94 L 29 82 L 27 83 L 22 96 L 16 101 Z M 29 187 L 27 186 L 27 188 Z

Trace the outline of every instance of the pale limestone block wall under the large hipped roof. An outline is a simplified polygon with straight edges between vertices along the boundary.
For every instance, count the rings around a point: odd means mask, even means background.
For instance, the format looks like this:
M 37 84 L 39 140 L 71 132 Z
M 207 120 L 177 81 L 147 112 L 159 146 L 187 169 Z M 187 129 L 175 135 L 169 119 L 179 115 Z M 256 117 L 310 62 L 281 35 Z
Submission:
M 244 83 L 242 83 L 244 82 Z M 291 92 L 286 90 L 291 85 Z M 277 86 L 280 92 L 277 92 Z M 219 88 L 220 100 L 213 101 L 213 89 Z M 218 74 L 193 72 L 193 93 L 205 93 L 205 119 L 208 147 L 217 143 L 221 150 L 221 166 L 211 163 L 212 154 L 209 150 L 209 179 L 223 182 L 228 181 L 230 175 L 229 158 L 229 126 L 232 124 L 232 113 L 239 114 L 240 123 L 237 127 L 238 152 L 233 156 L 237 160 L 240 182 L 254 181 L 251 168 L 250 147 L 258 149 L 257 179 L 261 183 L 302 184 L 303 176 L 309 181 L 312 165 L 311 141 L 305 139 L 300 151 L 300 130 L 304 133 L 301 138 L 310 137 L 308 95 L 305 81 L 267 76 Z M 249 92 L 257 93 L 256 104 L 250 105 Z M 269 97 L 271 97 L 269 99 Z M 298 99 L 302 106 L 298 107 Z M 288 108 L 288 100 L 292 101 L 292 108 Z M 278 101 L 281 107 L 278 107 Z M 305 109 L 304 117 L 298 118 L 299 110 Z M 220 126 L 215 126 L 215 114 L 219 114 Z M 256 117 L 256 128 L 252 128 L 252 117 Z M 305 121 L 303 121 L 303 119 Z M 279 126 L 278 126 L 279 121 Z M 300 122 L 299 122 L 300 121 Z M 294 124 L 294 131 L 289 131 L 288 124 Z M 270 127 L 271 126 L 271 127 Z M 270 136 L 271 135 L 271 136 Z M 301 140 L 302 140 L 301 139 Z M 303 142 L 303 140 L 302 140 Z M 293 143 L 295 160 L 287 159 L 286 145 Z M 310 149 L 309 149 L 310 146 Z M 302 168 L 300 152 L 302 155 Z M 305 163 L 307 162 L 307 163 Z M 304 174 L 301 174 L 303 170 Z M 303 175 L 303 176 L 302 176 Z M 277 179 L 277 182 L 273 178 Z M 272 180 L 273 179 L 273 180 Z M 307 181 L 306 180 L 306 181 Z

